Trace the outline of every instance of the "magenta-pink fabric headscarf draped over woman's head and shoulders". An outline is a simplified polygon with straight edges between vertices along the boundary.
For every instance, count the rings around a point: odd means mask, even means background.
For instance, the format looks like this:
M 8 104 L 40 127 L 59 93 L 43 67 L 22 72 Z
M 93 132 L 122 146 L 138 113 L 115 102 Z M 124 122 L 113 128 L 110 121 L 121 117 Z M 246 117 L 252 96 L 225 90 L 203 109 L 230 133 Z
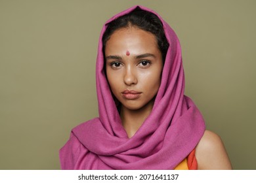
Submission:
M 137 133 L 131 139 L 127 137 L 104 73 L 102 35 L 109 22 L 136 7 L 110 18 L 102 29 L 96 61 L 99 117 L 72 129 L 69 141 L 60 149 L 62 169 L 174 169 L 196 147 L 205 131 L 200 111 L 184 96 L 177 35 L 156 12 L 139 7 L 160 18 L 170 46 L 152 112 Z

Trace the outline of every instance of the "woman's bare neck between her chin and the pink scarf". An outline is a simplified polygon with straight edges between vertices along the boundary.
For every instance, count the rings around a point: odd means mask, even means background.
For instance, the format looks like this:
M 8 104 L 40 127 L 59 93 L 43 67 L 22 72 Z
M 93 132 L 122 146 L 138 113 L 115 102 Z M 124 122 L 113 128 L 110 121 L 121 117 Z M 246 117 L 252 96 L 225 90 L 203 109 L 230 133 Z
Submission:
M 146 120 L 150 112 L 152 111 L 154 101 L 150 101 L 147 105 L 137 110 L 131 110 L 129 108 L 121 106 L 120 116 L 123 127 L 129 138 L 133 137 L 143 122 Z

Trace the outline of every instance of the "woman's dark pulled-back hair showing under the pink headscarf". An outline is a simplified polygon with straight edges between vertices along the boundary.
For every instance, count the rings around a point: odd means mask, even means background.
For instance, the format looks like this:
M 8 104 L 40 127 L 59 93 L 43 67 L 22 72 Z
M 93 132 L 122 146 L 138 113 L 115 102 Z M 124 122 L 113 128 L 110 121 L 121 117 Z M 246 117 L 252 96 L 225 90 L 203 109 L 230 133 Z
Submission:
M 110 36 L 114 33 L 114 31 L 130 26 L 139 27 L 140 29 L 155 35 L 158 42 L 158 48 L 164 62 L 169 43 L 163 31 L 163 24 L 156 14 L 142 10 L 139 7 L 135 8 L 135 10 L 129 12 L 128 14 L 116 18 L 116 20 L 113 20 L 108 24 L 108 27 L 106 28 L 106 31 L 102 37 L 103 53 L 105 54 L 106 42 L 108 39 L 110 39 Z

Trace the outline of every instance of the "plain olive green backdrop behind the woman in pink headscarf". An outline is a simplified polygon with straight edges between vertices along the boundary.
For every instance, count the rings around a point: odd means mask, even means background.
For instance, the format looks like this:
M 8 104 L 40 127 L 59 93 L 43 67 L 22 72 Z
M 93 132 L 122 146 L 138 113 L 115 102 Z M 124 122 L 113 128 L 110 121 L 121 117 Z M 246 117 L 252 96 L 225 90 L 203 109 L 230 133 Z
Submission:
M 186 95 L 234 169 L 256 169 L 256 1 L 0 0 L 0 169 L 60 169 L 75 125 L 98 115 L 95 60 L 108 18 L 158 12 L 182 46 Z

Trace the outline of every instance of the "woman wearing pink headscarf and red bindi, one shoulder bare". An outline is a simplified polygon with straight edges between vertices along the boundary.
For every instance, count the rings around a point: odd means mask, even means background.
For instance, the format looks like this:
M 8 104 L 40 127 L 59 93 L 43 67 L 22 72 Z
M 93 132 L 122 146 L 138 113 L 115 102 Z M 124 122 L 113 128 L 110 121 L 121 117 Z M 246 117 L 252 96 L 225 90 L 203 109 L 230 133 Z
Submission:
M 184 95 L 179 40 L 156 12 L 132 7 L 106 22 L 96 89 L 99 117 L 72 129 L 62 169 L 231 169 Z

